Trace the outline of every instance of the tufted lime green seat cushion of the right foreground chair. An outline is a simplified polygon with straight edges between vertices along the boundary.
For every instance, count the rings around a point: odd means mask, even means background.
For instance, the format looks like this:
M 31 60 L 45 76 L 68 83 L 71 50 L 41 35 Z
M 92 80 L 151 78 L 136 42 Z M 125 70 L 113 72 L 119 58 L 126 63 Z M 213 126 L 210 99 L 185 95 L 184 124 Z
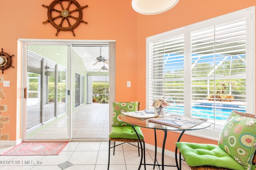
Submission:
M 218 145 L 177 142 L 186 162 L 190 166 L 216 166 L 233 170 L 244 170 L 244 167 L 234 160 Z

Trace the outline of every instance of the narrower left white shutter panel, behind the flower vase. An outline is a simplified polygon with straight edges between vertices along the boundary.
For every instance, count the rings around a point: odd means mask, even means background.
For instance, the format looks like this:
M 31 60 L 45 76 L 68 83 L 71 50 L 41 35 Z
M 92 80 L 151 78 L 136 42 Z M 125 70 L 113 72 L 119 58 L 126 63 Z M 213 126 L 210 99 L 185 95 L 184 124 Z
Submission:
M 150 43 L 149 103 L 164 98 L 169 113 L 184 114 L 184 37 Z

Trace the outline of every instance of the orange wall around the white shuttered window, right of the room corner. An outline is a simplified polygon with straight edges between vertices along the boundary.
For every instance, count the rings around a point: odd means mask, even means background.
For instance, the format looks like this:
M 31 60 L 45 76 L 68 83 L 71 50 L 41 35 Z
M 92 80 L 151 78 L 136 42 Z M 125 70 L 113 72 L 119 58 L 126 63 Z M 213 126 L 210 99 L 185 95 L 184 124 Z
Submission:
M 170 31 L 179 27 L 190 25 L 199 21 L 235 12 L 256 5 L 256 0 L 179 0 L 178 4 L 171 10 L 162 14 L 146 16 L 138 14 L 137 18 L 137 96 L 145 109 L 146 103 L 146 37 Z M 153 130 L 143 129 L 146 142 L 154 145 Z M 169 132 L 166 141 L 166 149 L 174 151 L 174 143 L 178 139 L 178 133 Z M 163 133 L 159 135 L 162 141 Z M 196 143 L 213 143 L 216 141 L 185 135 L 181 141 Z M 158 142 L 161 147 L 162 142 Z

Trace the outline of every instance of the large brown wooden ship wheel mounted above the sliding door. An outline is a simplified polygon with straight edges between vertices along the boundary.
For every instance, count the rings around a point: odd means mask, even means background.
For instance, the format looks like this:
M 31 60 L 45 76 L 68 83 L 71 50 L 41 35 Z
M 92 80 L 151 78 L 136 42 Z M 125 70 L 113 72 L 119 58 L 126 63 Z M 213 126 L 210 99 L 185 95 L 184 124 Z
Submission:
M 62 2 L 63 1 L 67 1 L 68 2 L 68 6 L 66 8 L 63 7 L 63 4 Z M 57 10 L 56 8 L 54 8 L 55 6 L 57 5 L 60 5 L 61 7 L 61 11 L 60 10 Z M 76 8 L 74 10 L 70 10 L 70 5 L 71 4 L 74 4 L 76 6 Z M 82 13 L 82 9 L 88 7 L 88 5 L 86 6 L 80 6 L 78 4 L 78 2 L 76 2 L 76 0 L 54 0 L 49 6 L 46 6 L 46 5 L 42 5 L 43 7 L 45 8 L 48 8 L 48 12 L 47 12 L 47 16 L 48 16 L 48 20 L 44 21 L 43 23 L 48 23 L 50 22 L 52 24 L 52 26 L 54 26 L 56 29 L 57 29 L 57 33 L 56 33 L 56 36 L 58 35 L 58 33 L 60 31 L 72 31 L 73 35 L 75 35 L 74 33 L 74 29 L 82 22 L 82 23 L 86 23 L 86 21 L 83 21 L 82 20 L 82 17 L 83 17 L 83 13 Z M 58 12 L 59 15 L 57 16 L 52 16 L 52 12 Z M 78 11 L 79 13 L 79 16 L 78 17 L 75 17 L 75 16 L 72 16 L 71 14 L 73 12 L 76 12 Z M 59 24 L 56 24 L 54 22 L 54 20 L 56 20 L 57 18 L 62 18 L 60 23 Z M 76 23 L 74 23 L 73 25 L 70 23 L 70 20 L 69 18 L 73 18 L 76 20 Z M 68 22 L 68 27 L 62 27 L 62 24 L 63 24 L 63 21 L 66 20 Z

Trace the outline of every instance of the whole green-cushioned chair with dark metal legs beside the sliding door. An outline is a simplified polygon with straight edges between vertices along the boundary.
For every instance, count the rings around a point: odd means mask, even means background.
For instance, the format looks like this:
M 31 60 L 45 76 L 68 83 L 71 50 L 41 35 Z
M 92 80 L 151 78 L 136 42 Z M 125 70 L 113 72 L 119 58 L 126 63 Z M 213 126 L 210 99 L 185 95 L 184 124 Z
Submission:
M 123 123 L 117 119 L 118 115 L 120 114 L 120 111 L 127 112 L 127 111 L 138 111 L 140 110 L 140 102 L 113 102 L 113 121 L 112 121 L 112 131 L 108 135 L 109 137 L 109 147 L 108 147 L 108 170 L 109 170 L 109 164 L 110 164 L 110 149 L 114 148 L 113 155 L 115 155 L 115 147 L 122 145 L 124 143 L 129 143 L 130 145 L 133 145 L 135 147 L 138 147 L 138 155 L 140 156 L 140 147 L 139 147 L 139 139 L 136 135 L 136 132 L 132 128 L 131 125 Z M 145 148 L 145 142 L 144 142 L 144 136 L 142 134 L 142 131 L 140 127 L 134 127 L 140 136 L 140 139 L 144 145 Z M 114 146 L 110 147 L 110 141 L 114 141 Z M 118 145 L 116 145 L 116 142 L 122 142 Z M 132 144 L 133 142 L 138 143 L 138 146 Z M 145 159 L 144 159 L 145 161 Z

